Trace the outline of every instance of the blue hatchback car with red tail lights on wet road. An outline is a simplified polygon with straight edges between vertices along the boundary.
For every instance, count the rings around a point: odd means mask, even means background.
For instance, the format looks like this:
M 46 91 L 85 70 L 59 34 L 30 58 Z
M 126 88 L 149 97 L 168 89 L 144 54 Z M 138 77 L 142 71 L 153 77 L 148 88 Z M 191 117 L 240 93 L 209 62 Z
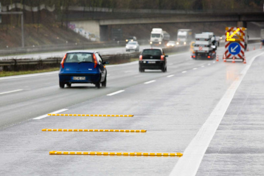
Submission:
M 70 87 L 74 83 L 91 83 L 97 88 L 106 87 L 107 70 L 100 54 L 96 51 L 73 50 L 66 52 L 59 72 L 59 85 Z

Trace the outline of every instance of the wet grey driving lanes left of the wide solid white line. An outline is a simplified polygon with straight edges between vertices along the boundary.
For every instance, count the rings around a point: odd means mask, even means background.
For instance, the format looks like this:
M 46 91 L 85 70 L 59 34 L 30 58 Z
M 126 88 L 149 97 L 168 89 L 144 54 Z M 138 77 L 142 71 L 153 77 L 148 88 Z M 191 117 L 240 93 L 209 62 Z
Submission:
M 247 52 L 246 57 L 249 61 L 259 53 L 260 50 Z M 83 85 L 60 89 L 57 74 L 21 78 L 16 82 L 0 80 L 1 85 L 6 85 L 1 92 L 8 88 L 9 91 L 23 89 L 0 95 L 1 124 L 5 118 L 18 123 L 64 108 L 68 109 L 65 113 L 134 114 L 129 118 L 45 117 L 4 128 L 0 133 L 3 158 L 0 174 L 167 176 L 181 158 L 60 156 L 48 152 L 183 152 L 245 66 L 221 60 L 195 61 L 190 59 L 190 53 L 181 53 L 169 57 L 167 73 L 139 73 L 137 63 L 110 66 L 108 87 L 102 89 Z M 106 96 L 118 90 L 125 91 Z M 8 123 L 12 124 L 5 124 Z M 145 129 L 147 132 L 41 132 L 43 128 Z

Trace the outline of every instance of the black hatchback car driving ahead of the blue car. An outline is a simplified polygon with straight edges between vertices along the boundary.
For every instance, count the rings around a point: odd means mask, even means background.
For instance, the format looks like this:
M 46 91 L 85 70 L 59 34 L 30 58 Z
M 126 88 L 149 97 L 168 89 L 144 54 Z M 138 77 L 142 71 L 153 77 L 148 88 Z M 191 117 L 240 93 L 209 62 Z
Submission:
M 145 69 L 161 69 L 162 72 L 167 71 L 167 55 L 162 48 L 146 48 L 143 49 L 139 56 L 139 72 Z

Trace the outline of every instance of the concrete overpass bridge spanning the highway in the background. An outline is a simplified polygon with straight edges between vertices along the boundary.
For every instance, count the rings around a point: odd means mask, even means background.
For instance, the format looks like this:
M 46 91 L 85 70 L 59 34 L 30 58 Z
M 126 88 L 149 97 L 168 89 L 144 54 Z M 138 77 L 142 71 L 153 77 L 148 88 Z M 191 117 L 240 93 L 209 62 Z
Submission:
M 244 13 L 193 13 L 166 14 L 159 17 L 136 17 L 128 15 L 114 19 L 94 19 L 71 21 L 76 27 L 82 27 L 97 36 L 101 41 L 108 40 L 108 29 L 111 25 L 150 24 L 150 23 L 186 23 L 186 22 L 236 22 L 239 27 L 247 27 L 247 22 L 264 22 L 263 12 Z

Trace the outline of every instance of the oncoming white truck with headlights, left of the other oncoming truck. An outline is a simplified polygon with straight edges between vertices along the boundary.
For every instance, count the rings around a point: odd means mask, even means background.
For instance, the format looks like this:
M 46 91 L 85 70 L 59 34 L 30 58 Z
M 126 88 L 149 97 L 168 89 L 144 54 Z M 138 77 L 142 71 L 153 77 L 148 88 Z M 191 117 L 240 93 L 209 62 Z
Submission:
M 170 40 L 170 34 L 161 28 L 153 28 L 151 31 L 151 45 L 166 45 Z

